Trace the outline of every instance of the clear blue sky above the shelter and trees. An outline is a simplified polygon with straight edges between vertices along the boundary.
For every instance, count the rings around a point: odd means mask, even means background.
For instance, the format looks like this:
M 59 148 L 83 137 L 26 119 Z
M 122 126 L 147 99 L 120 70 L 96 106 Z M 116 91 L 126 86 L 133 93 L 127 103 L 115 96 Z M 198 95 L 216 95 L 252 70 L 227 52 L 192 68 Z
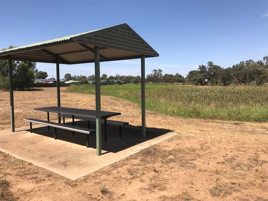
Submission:
M 153 69 L 186 75 L 213 61 L 230 67 L 268 54 L 268 1 L 0 0 L 0 49 L 127 23 L 158 53 Z M 56 65 L 37 63 L 56 76 Z M 94 74 L 94 64 L 60 65 L 60 77 Z M 101 62 L 101 74 L 139 75 L 140 60 Z

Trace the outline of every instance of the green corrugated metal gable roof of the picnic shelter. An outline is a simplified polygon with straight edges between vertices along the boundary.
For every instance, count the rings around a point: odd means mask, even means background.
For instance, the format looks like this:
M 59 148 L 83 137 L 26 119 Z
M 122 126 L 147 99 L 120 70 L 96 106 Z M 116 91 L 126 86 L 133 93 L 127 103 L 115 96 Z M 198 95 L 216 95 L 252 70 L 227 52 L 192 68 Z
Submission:
M 0 51 L 0 60 L 25 60 L 61 64 L 94 62 L 94 46 L 100 61 L 155 57 L 159 54 L 126 23 Z

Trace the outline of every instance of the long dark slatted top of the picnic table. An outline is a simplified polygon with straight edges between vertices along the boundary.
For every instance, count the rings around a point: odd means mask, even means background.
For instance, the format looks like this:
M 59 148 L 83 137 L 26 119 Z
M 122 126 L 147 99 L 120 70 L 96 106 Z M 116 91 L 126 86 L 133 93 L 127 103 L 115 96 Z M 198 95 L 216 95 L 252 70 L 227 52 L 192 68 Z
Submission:
M 54 112 L 60 114 L 70 114 L 81 117 L 91 117 L 96 118 L 96 110 L 91 109 L 77 109 L 77 108 L 66 108 L 66 107 L 42 107 L 42 108 L 34 108 L 34 110 L 43 111 L 43 112 Z M 106 112 L 101 111 L 101 118 L 106 119 L 111 116 L 120 115 L 120 112 Z

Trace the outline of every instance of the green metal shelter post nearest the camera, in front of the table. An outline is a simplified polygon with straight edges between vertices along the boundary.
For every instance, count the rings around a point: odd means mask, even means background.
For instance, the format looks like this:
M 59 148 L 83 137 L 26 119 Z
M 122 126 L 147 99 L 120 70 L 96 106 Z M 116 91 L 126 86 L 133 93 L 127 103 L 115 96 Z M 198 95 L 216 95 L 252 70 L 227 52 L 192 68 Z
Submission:
M 96 149 L 101 155 L 101 79 L 100 79 L 100 47 L 94 46 L 95 58 L 95 92 L 96 92 Z

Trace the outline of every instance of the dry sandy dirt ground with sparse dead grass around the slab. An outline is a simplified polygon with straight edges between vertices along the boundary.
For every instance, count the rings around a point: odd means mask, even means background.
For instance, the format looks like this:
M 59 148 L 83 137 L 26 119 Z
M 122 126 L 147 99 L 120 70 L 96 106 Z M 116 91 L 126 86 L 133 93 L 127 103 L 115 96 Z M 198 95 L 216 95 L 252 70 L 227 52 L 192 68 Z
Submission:
M 16 127 L 28 126 L 23 118 L 46 119 L 33 108 L 56 106 L 56 88 L 14 92 L 14 99 Z M 108 96 L 101 103 L 122 113 L 114 119 L 141 125 L 139 105 Z M 94 109 L 95 98 L 63 92 L 61 105 Z M 0 114 L 0 129 L 9 129 L 8 92 L 0 92 Z M 179 135 L 75 181 L 0 152 L 0 200 L 268 200 L 268 123 L 153 111 L 146 111 L 146 123 Z

